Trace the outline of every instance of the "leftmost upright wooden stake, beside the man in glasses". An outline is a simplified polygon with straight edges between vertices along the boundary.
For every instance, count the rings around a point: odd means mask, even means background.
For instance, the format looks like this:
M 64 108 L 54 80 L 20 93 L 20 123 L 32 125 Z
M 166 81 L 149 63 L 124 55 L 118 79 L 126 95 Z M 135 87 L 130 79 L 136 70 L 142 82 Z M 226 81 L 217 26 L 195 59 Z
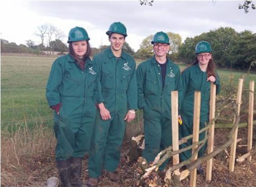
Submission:
M 172 150 L 178 150 L 178 92 L 171 92 L 172 101 Z M 180 163 L 178 154 L 172 156 L 172 163 Z

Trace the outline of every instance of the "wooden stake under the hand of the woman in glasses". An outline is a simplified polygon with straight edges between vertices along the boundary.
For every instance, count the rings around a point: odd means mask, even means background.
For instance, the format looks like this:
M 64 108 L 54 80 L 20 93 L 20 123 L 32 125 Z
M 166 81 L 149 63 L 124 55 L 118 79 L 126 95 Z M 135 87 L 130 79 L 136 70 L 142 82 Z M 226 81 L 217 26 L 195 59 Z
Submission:
M 216 85 L 211 83 L 211 93 L 210 93 L 210 112 L 209 112 L 209 122 L 215 118 L 215 101 L 216 101 Z M 207 146 L 207 154 L 211 153 L 214 149 L 214 122 L 209 129 L 209 139 Z M 207 160 L 206 166 L 206 180 L 211 181 L 212 172 L 212 158 Z

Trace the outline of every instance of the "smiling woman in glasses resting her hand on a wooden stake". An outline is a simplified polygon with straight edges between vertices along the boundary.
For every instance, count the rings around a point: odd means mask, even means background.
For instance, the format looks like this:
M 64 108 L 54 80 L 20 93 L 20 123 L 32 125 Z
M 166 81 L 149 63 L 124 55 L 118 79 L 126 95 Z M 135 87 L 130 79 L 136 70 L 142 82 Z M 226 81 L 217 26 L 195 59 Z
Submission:
M 220 92 L 220 80 L 215 70 L 215 63 L 212 58 L 212 48 L 209 42 L 201 41 L 195 47 L 196 58 L 194 63 L 186 68 L 182 74 L 181 84 L 181 106 L 180 118 L 180 138 L 187 137 L 193 132 L 193 115 L 194 115 L 194 94 L 195 91 L 201 92 L 201 108 L 200 108 L 200 129 L 205 127 L 205 123 L 209 123 L 209 100 L 211 83 L 216 84 L 216 94 Z M 199 140 L 205 138 L 205 132 L 200 133 Z M 185 148 L 192 144 L 192 140 L 188 140 L 181 145 Z M 198 156 L 202 156 L 206 149 L 206 144 L 199 150 Z M 181 161 L 185 161 L 191 157 L 191 149 L 180 154 Z M 202 173 L 202 168 L 198 169 Z

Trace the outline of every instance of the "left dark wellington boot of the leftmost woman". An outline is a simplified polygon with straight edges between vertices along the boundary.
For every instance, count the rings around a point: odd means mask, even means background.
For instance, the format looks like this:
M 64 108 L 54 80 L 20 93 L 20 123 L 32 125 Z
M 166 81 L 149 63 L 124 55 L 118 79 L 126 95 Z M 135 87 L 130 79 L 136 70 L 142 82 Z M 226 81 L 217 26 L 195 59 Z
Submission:
M 60 187 L 73 187 L 70 184 L 70 161 L 69 160 L 58 160 L 57 168 L 60 174 Z

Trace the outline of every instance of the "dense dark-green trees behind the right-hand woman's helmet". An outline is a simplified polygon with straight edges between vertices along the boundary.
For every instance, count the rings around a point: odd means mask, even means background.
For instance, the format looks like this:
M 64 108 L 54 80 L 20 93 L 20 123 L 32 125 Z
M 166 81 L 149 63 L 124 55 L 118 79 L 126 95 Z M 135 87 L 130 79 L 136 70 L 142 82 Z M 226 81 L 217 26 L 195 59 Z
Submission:
M 230 27 L 186 38 L 178 49 L 178 58 L 191 63 L 195 59 L 194 47 L 202 40 L 211 43 L 214 61 L 220 68 L 246 70 L 255 64 L 256 34 L 250 31 L 238 33 Z M 255 67 L 251 68 L 255 70 Z

